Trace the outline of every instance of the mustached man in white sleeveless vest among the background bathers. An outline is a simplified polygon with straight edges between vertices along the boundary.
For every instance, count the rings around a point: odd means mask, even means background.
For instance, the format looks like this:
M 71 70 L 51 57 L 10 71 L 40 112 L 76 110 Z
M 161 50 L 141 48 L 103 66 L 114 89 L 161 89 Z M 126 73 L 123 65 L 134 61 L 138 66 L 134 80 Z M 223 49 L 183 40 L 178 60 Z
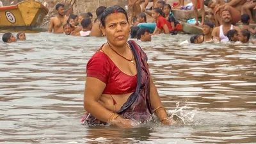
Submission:
M 241 29 L 232 25 L 232 17 L 228 10 L 223 10 L 221 12 L 221 20 L 222 25 L 213 29 L 212 36 L 220 37 L 221 42 L 228 42 L 228 37 L 226 36 L 227 31 L 230 29 L 241 31 Z

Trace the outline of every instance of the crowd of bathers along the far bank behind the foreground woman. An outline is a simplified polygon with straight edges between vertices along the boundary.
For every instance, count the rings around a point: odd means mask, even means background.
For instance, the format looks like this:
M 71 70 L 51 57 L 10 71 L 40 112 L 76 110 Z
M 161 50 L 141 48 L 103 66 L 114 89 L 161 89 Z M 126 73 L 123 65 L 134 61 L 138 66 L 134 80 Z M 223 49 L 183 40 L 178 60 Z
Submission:
M 153 0 L 151 8 L 147 9 L 148 0 L 129 0 L 131 24 L 131 38 L 137 38 L 142 42 L 151 40 L 152 35 L 159 33 L 176 35 L 182 31 L 182 24 L 175 19 L 172 13 L 172 8 L 184 7 L 184 0 L 179 0 L 179 3 L 173 3 L 172 6 L 166 3 L 166 0 Z M 141 3 L 144 3 L 142 8 Z M 209 21 L 205 22 L 204 5 L 209 8 L 207 15 Z M 183 7 L 182 7 L 183 6 Z M 190 42 L 200 44 L 217 40 L 221 42 L 243 42 L 247 43 L 251 34 L 256 33 L 256 28 L 252 29 L 249 25 L 253 23 L 251 9 L 255 8 L 255 0 L 197 0 L 193 1 L 195 10 L 195 25 L 198 25 L 197 9 L 202 10 L 202 30 L 204 35 L 191 36 Z M 104 36 L 102 33 L 102 25 L 100 17 L 106 10 L 105 6 L 100 6 L 96 10 L 96 18 L 93 20 L 91 12 L 81 13 L 80 15 L 70 14 L 65 15 L 64 5 L 56 4 L 55 17 L 51 18 L 49 23 L 49 33 L 65 33 L 73 36 Z M 241 15 L 243 13 L 243 15 Z M 152 17 L 155 22 L 148 22 L 147 17 Z M 236 26 L 237 22 L 241 21 L 240 26 Z M 19 39 L 19 38 L 17 38 Z M 4 42 L 15 42 L 10 33 L 3 35 Z M 253 42 L 253 41 L 252 41 Z M 254 42 L 253 42 L 254 43 Z

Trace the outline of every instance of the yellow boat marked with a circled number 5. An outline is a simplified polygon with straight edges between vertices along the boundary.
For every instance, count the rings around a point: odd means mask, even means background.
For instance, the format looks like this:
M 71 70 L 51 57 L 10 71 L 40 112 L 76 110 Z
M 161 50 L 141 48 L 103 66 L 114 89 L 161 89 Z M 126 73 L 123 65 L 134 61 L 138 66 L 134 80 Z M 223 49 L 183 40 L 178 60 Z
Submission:
M 0 7 L 0 29 L 38 28 L 49 10 L 36 1 L 22 1 L 13 6 Z

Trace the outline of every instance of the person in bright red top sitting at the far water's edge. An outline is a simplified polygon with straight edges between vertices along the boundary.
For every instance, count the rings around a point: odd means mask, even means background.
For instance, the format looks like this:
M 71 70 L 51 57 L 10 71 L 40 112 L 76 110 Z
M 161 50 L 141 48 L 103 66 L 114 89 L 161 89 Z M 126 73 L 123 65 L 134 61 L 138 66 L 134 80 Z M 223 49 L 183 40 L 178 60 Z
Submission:
M 153 35 L 157 35 L 162 31 L 165 34 L 170 34 L 170 31 L 173 31 L 170 22 L 164 18 L 164 13 L 160 8 L 154 8 L 152 10 L 152 17 L 156 19 L 156 29 Z

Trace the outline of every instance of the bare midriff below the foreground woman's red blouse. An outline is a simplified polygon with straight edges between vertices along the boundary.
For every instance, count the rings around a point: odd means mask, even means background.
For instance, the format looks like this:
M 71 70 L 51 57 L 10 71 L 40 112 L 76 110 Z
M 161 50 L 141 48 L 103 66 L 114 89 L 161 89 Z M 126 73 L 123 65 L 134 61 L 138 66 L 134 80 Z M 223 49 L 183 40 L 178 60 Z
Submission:
M 112 95 L 113 99 L 116 101 L 114 104 L 111 95 L 101 95 L 99 99 L 99 104 L 101 104 L 104 108 L 108 109 L 109 111 L 119 111 L 127 99 L 132 93 L 126 93 L 124 95 Z

